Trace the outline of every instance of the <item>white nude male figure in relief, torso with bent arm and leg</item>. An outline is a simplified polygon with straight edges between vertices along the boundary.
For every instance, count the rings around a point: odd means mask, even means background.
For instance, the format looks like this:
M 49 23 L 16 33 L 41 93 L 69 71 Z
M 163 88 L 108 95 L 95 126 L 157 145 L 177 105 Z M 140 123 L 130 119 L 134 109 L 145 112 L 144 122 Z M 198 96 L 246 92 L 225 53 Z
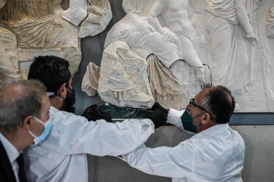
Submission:
M 190 66 L 198 67 L 200 72 L 204 72 L 203 64 L 191 42 L 193 29 L 189 20 L 188 7 L 188 0 L 156 0 L 148 14 L 148 22 L 156 31 L 162 34 L 162 39 L 172 40 L 173 42 L 180 41 L 183 59 Z M 158 16 L 167 27 L 161 25 Z M 196 72 L 199 73 L 199 69 L 198 71 L 196 69 Z

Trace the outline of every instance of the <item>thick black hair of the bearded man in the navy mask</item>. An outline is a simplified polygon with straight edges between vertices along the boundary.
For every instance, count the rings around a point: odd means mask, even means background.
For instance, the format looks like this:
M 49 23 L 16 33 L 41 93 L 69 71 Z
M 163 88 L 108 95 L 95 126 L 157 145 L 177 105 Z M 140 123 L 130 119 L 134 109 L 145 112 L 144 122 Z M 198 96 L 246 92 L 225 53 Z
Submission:
M 56 93 L 63 83 L 68 84 L 71 77 L 68 67 L 69 62 L 63 58 L 38 56 L 29 68 L 28 79 L 39 79 L 46 85 L 48 92 Z

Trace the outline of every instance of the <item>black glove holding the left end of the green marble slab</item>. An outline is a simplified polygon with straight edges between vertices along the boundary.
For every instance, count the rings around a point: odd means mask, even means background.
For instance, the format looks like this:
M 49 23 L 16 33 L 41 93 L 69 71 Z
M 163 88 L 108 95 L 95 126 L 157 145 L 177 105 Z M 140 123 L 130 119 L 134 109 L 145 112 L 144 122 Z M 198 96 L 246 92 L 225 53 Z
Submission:
M 104 119 L 107 122 L 112 122 L 110 114 L 106 113 L 105 111 L 102 111 L 101 109 L 97 109 L 96 104 L 86 108 L 82 116 L 86 117 L 89 121 Z

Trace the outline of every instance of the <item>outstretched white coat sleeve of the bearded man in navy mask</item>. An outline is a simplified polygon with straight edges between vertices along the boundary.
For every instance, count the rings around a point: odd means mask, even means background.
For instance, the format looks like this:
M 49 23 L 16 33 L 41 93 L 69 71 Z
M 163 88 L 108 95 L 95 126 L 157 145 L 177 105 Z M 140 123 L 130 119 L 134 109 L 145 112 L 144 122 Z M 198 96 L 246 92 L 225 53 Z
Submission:
M 64 154 L 118 156 L 133 151 L 154 133 L 150 119 L 110 123 L 90 121 L 69 114 L 60 125 L 60 145 Z

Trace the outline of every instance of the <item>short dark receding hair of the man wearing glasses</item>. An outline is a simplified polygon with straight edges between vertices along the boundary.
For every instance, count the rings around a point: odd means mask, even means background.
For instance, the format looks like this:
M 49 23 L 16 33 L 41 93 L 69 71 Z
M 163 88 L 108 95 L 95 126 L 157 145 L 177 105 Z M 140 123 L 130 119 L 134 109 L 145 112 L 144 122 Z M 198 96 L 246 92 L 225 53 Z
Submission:
M 209 87 L 211 87 L 211 84 L 201 86 L 202 89 Z M 209 112 L 213 122 L 225 124 L 229 122 L 229 118 L 234 112 L 235 98 L 227 87 L 217 85 L 216 87 L 211 87 L 205 94 L 201 106 Z

